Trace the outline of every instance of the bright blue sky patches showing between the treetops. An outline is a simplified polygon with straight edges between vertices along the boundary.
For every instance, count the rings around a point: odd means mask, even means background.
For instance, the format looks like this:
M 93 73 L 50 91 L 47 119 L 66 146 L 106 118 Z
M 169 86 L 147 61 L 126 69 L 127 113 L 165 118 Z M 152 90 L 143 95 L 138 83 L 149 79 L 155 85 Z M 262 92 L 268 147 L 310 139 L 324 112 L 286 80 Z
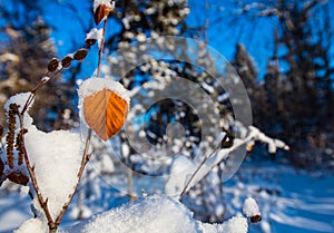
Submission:
M 243 16 L 234 19 L 230 16 L 234 4 L 228 0 L 188 0 L 190 14 L 187 22 L 190 27 L 208 23 L 208 45 L 218 50 L 228 60 L 233 59 L 237 42 L 245 45 L 259 71 L 259 78 L 265 72 L 267 58 L 272 56 L 274 48 L 273 30 L 277 22 L 275 18 L 250 19 Z M 331 12 L 334 11 L 334 1 L 328 1 Z M 94 27 L 90 16 L 89 1 L 58 0 L 48 7 L 45 18 L 55 26 L 53 40 L 58 47 L 59 57 L 72 52 L 75 48 L 84 46 L 85 30 Z M 332 23 L 332 28 L 334 28 Z M 108 23 L 108 32 L 114 33 L 118 28 Z M 203 37 L 200 38 L 203 39 Z M 332 49 L 334 55 L 334 48 Z

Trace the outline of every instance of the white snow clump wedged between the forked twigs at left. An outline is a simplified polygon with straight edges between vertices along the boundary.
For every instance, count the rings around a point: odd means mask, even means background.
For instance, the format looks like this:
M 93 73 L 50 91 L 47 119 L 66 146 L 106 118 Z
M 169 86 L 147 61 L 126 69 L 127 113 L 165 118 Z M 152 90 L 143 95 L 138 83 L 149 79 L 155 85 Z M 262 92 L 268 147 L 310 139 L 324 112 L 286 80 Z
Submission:
M 56 219 L 78 182 L 82 143 L 79 134 L 55 130 L 43 133 L 28 127 L 26 147 L 43 198 L 48 198 L 51 216 Z M 37 197 L 35 207 L 41 211 Z

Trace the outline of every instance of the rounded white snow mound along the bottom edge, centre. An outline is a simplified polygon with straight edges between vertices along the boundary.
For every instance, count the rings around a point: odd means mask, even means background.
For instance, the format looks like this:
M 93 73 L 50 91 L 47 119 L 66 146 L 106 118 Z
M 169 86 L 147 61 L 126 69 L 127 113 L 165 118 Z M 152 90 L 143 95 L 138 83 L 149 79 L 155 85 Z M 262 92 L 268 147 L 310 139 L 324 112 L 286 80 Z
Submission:
M 101 213 L 60 233 L 246 233 L 247 229 L 246 217 L 204 224 L 179 201 L 155 195 Z

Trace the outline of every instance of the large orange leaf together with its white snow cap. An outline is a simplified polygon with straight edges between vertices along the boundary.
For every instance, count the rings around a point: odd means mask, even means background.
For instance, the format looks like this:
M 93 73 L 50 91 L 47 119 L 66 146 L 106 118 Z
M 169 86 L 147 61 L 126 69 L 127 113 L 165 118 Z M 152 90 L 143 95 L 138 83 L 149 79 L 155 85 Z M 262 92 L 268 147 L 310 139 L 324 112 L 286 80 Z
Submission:
M 90 78 L 79 88 L 82 120 L 101 139 L 107 140 L 124 126 L 130 98 L 128 90 L 108 78 Z

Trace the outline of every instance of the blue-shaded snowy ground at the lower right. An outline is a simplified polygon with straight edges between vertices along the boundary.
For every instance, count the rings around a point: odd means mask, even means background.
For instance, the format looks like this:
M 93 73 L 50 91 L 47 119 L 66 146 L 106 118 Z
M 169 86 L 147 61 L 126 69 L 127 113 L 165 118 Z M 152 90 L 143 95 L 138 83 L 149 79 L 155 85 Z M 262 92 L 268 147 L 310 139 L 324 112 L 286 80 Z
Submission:
M 334 232 L 334 176 L 306 173 L 273 163 L 244 163 L 238 178 L 226 183 L 230 207 L 244 195 L 253 196 L 263 221 L 250 233 Z M 235 204 L 233 204 L 235 203 Z

